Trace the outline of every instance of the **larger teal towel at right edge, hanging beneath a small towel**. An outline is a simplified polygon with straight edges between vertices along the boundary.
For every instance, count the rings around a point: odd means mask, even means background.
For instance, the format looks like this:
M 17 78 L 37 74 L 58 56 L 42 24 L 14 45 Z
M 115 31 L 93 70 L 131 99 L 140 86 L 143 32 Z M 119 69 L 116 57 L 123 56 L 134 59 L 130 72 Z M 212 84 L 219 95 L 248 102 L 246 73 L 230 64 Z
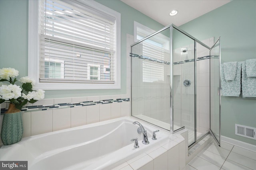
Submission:
M 256 98 L 256 77 L 248 77 L 246 61 L 242 62 L 242 98 Z

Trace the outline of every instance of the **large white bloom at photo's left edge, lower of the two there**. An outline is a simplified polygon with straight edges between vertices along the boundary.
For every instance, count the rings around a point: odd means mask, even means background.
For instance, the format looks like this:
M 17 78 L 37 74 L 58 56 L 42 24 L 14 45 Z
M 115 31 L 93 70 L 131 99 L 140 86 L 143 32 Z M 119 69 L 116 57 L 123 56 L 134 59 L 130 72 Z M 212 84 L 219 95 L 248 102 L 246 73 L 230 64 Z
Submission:
M 21 96 L 21 88 L 16 84 L 2 85 L 0 87 L 0 96 L 4 100 L 17 99 Z

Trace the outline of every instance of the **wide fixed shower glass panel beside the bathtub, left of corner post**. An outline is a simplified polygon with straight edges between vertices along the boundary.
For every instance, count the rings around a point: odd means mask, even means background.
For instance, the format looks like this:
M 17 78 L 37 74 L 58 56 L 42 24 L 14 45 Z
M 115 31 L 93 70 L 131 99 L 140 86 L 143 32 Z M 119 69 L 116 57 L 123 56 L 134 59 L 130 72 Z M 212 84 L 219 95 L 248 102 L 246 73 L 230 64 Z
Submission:
M 170 131 L 170 28 L 131 51 L 132 115 Z

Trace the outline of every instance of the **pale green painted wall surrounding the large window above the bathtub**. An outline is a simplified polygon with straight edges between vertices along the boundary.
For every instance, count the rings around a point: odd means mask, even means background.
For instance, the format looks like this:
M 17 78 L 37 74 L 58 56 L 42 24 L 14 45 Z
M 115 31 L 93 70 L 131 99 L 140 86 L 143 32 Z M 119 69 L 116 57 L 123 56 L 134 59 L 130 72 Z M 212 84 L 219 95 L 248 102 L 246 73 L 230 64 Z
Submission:
M 119 0 L 96 0 L 121 14 L 121 89 L 46 90 L 45 98 L 126 94 L 126 34 L 133 35 L 134 20 L 158 30 L 160 23 Z M 28 0 L 0 0 L 0 68 L 12 67 L 28 75 Z

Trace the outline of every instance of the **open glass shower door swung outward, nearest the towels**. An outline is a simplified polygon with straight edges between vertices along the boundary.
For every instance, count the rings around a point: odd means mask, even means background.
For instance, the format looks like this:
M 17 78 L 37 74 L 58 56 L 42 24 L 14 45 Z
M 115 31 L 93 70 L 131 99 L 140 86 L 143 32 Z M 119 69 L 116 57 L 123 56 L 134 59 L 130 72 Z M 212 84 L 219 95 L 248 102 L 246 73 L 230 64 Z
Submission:
M 220 146 L 220 38 L 210 49 L 210 133 Z

